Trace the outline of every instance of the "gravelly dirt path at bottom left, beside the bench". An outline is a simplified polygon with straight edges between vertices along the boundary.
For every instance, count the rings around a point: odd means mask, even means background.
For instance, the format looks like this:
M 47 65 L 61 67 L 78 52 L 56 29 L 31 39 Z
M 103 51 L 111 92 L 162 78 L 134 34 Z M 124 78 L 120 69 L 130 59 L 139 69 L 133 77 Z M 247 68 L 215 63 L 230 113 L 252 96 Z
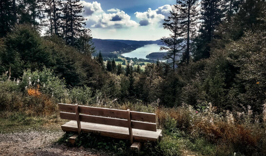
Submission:
M 27 130 L 0 134 L 0 156 L 107 156 L 82 147 L 68 147 L 56 141 L 62 131 Z

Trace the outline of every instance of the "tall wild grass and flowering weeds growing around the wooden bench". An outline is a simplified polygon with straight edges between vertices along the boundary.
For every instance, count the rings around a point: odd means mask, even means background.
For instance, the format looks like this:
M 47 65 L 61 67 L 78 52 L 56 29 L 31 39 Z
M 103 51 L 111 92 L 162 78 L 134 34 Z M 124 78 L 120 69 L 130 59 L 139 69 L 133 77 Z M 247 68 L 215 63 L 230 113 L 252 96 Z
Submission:
M 43 93 L 38 85 L 25 87 L 21 91 L 17 82 L 2 81 L 0 93 L 0 117 L 2 121 L 10 123 L 5 124 L 5 127 L 18 123 L 43 125 L 40 117 L 52 117 L 49 119 L 51 122 L 58 122 L 57 103 L 62 100 Z M 218 113 L 211 103 L 200 110 L 185 104 L 164 108 L 158 105 L 158 101 L 150 104 L 118 103 L 103 98 L 101 92 L 92 95 L 87 87 L 75 88 L 68 93 L 63 99 L 68 103 L 156 113 L 157 125 L 163 129 L 164 137 L 155 145 L 145 145 L 144 151 L 150 151 L 148 153 L 151 155 L 177 156 L 186 149 L 205 156 L 266 154 L 266 104 L 262 106 L 263 113 L 257 115 L 253 114 L 250 106 L 244 108 L 244 112 Z

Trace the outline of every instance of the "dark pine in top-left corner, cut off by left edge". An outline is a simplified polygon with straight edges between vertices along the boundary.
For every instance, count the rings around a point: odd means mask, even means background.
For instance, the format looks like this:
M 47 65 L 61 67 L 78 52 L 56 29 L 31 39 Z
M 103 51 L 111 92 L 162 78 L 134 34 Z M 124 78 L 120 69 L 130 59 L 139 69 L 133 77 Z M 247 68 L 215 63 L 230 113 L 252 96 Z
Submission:
M 0 38 L 5 37 L 14 23 L 11 0 L 0 0 Z

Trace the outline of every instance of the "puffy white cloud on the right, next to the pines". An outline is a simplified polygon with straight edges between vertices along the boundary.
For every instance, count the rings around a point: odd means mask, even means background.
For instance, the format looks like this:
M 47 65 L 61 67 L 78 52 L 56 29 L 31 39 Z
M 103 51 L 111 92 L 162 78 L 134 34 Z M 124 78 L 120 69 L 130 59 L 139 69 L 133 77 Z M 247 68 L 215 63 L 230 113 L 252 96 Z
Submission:
M 171 10 L 171 5 L 164 5 L 160 6 L 155 10 L 152 10 L 151 8 L 148 8 L 145 12 L 136 12 L 136 18 L 140 20 L 141 26 L 146 26 L 149 24 L 160 24 L 162 25 L 162 22 L 164 19 L 167 18 L 169 15 L 169 12 Z

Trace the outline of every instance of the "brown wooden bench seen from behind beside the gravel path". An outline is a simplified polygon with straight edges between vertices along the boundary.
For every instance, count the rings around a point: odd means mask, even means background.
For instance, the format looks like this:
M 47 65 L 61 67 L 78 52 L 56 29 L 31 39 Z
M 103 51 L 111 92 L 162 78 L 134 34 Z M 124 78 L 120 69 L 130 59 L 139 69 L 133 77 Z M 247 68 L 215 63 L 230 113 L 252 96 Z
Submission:
M 162 130 L 156 129 L 156 115 L 59 103 L 60 117 L 71 120 L 61 125 L 64 132 L 93 132 L 102 136 L 129 139 L 131 148 L 140 149 L 144 141 L 157 141 Z M 133 141 L 138 141 L 134 142 Z

